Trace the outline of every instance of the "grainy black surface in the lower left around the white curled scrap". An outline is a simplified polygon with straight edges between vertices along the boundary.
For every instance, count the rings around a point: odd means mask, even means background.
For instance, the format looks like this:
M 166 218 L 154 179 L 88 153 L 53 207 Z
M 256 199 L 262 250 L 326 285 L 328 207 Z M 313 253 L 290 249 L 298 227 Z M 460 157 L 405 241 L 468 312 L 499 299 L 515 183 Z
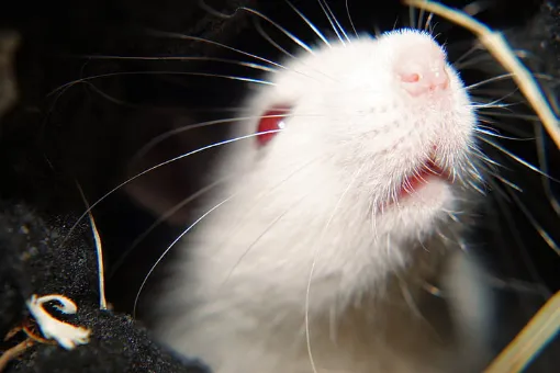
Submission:
M 49 218 L 45 223 L 21 204 L 2 207 L 2 335 L 26 316 L 23 302 L 31 293 L 64 294 L 76 302 L 78 313 L 51 312 L 70 324 L 91 329 L 90 342 L 70 351 L 36 343 L 9 365 L 7 372 L 206 372 L 202 364 L 175 357 L 156 344 L 130 316 L 99 309 L 97 256 L 87 225 L 79 225 L 67 237 L 69 219 Z M 8 340 L 2 347 L 13 344 Z

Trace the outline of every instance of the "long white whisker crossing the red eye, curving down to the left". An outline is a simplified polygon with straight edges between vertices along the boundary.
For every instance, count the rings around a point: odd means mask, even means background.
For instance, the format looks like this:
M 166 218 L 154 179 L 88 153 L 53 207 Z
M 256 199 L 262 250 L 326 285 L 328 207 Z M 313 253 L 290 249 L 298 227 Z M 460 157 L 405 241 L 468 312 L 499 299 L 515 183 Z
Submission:
M 195 154 L 199 154 L 199 152 L 202 152 L 202 151 L 205 151 L 205 150 L 209 150 L 209 149 L 212 149 L 212 148 L 216 148 L 216 147 L 220 147 L 220 146 L 224 146 L 224 145 L 227 145 L 227 144 L 232 144 L 232 143 L 235 143 L 235 142 L 239 142 L 239 140 L 244 140 L 244 139 L 248 139 L 248 138 L 253 138 L 253 137 L 256 137 L 256 136 L 261 136 L 261 135 L 266 135 L 266 134 L 273 134 L 273 133 L 279 133 L 279 132 L 282 132 L 283 129 L 271 129 L 271 131 L 266 131 L 266 132 L 257 132 L 255 134 L 250 134 L 250 135 L 245 135 L 245 136 L 238 136 L 238 137 L 234 137 L 234 138 L 229 138 L 229 139 L 226 139 L 226 140 L 223 140 L 223 142 L 219 142 L 219 143 L 214 143 L 214 144 L 211 144 L 211 145 L 206 145 L 206 146 L 203 146 L 201 148 L 198 148 L 195 150 L 192 150 L 192 151 L 189 151 L 189 152 L 186 152 L 186 154 L 182 154 L 180 156 L 177 156 L 177 157 L 173 157 L 171 159 L 168 159 L 164 162 L 160 162 L 156 166 L 153 166 L 137 174 L 135 174 L 134 177 L 132 178 L 128 178 L 127 180 L 123 181 L 122 183 L 120 183 L 119 185 L 116 185 L 115 188 L 113 188 L 112 190 L 110 190 L 109 192 L 107 192 L 104 195 L 102 195 L 97 202 L 94 202 L 89 208 L 87 208 L 87 211 L 80 215 L 77 219 L 77 222 L 70 227 L 70 229 L 68 230 L 68 234 L 66 235 L 66 237 L 61 240 L 59 247 L 63 247 L 66 241 L 68 240 L 68 238 L 70 237 L 70 235 L 74 233 L 74 230 L 76 229 L 76 227 L 78 226 L 78 224 L 83 219 L 83 217 L 86 217 L 86 215 L 89 214 L 89 212 L 91 210 L 93 210 L 97 205 L 99 205 L 101 202 L 103 202 L 109 195 L 113 194 L 114 192 L 116 192 L 117 190 L 120 190 L 121 188 L 123 188 L 124 185 L 127 185 L 128 183 L 133 182 L 134 180 L 143 177 L 144 174 L 148 173 L 148 172 L 152 172 L 154 170 L 157 170 L 158 168 L 160 167 L 164 167 L 164 166 L 167 166 L 167 165 L 170 165 L 172 162 L 176 162 L 180 159 L 183 159 L 183 158 L 187 158 L 187 157 L 190 157 L 190 156 L 193 156 Z

